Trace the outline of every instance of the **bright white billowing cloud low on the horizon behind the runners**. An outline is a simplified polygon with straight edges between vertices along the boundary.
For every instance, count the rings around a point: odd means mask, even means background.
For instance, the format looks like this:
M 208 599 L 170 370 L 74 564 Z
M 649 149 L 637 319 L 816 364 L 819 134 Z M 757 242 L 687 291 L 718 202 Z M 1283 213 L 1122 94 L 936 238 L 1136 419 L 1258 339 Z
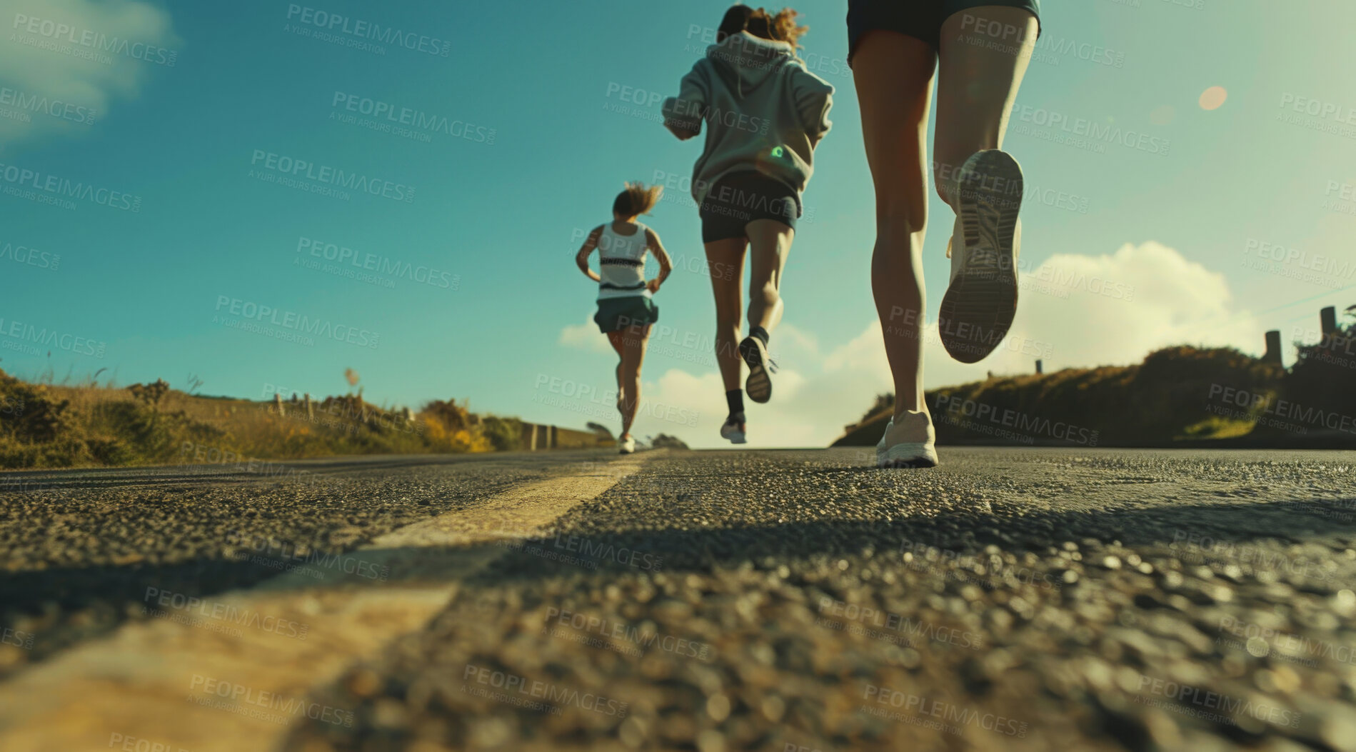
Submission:
M 1250 313 L 1233 308 L 1223 275 L 1158 243 L 1127 244 L 1104 256 L 1056 255 L 1024 274 L 1013 331 L 998 352 L 979 363 L 952 360 L 930 324 L 925 383 L 932 389 L 979 381 L 990 370 L 1032 373 L 1036 358 L 1044 359 L 1050 373 L 1138 363 L 1173 344 L 1233 346 L 1257 354 L 1261 343 L 1261 327 Z M 827 446 L 876 394 L 894 390 L 879 321 L 829 352 L 820 352 L 815 337 L 784 324 L 773 336 L 773 355 L 789 367 L 777 375 L 772 402 L 746 400 L 750 447 Z M 670 415 L 698 413 L 698 419 L 686 425 L 662 420 L 658 411 L 643 413 L 637 435 L 664 432 L 693 447 L 730 446 L 719 435 L 725 405 L 715 370 L 692 375 L 670 369 L 658 381 L 645 379 L 641 400 L 686 411 L 670 409 Z

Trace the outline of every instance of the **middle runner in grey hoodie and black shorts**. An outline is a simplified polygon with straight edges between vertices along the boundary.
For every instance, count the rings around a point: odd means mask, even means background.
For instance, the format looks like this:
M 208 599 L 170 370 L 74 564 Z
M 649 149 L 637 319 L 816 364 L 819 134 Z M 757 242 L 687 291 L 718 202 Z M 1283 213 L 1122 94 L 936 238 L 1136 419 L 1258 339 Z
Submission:
M 730 408 L 720 435 L 734 443 L 746 440 L 740 360 L 749 366 L 749 398 L 772 398 L 776 366 L 767 358 L 767 340 L 782 314 L 781 274 L 803 214 L 801 194 L 814 173 L 815 145 L 831 125 L 834 88 L 796 57 L 805 27 L 795 18 L 791 9 L 769 15 L 762 8 L 731 8 L 717 42 L 663 107 L 664 126 L 678 138 L 692 138 L 706 125 L 706 145 L 692 179 L 701 240 L 712 268 L 739 270 L 734 279 L 711 278 L 716 362 Z M 739 285 L 750 247 L 749 336 L 736 347 Z

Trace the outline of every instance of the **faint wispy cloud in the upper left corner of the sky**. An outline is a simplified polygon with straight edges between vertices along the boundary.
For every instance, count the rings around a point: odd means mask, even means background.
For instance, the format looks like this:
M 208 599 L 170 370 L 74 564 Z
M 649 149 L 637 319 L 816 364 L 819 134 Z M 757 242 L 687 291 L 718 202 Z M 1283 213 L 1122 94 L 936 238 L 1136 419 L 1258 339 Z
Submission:
M 0 144 L 88 131 L 182 45 L 141 0 L 0 0 Z

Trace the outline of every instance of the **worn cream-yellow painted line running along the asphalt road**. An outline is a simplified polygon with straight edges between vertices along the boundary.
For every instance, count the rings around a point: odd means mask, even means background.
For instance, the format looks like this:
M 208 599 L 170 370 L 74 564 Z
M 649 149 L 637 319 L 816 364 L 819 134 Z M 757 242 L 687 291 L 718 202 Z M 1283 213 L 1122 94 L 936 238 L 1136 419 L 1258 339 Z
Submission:
M 0 686 L 0 749 L 107 751 L 133 738 L 170 752 L 263 751 L 308 715 L 351 722 L 353 709 L 311 705 L 308 694 L 423 627 L 462 579 L 507 550 L 485 543 L 541 531 L 643 462 L 598 462 L 401 527 L 336 560 L 323 581 L 289 572 L 129 622 Z M 373 579 L 381 566 L 385 581 Z M 182 623 L 188 617 L 198 623 Z M 293 637 L 301 625 L 305 637 Z

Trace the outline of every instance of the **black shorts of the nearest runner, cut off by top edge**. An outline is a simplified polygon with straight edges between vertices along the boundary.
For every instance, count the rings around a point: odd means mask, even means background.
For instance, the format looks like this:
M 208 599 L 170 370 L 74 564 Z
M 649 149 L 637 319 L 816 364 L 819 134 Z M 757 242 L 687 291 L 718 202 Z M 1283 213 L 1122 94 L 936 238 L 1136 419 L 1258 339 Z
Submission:
M 1001 5 L 1031 11 L 1040 23 L 1040 0 L 848 0 L 848 65 L 862 34 L 872 30 L 898 31 L 941 46 L 941 24 L 951 16 L 975 11 L 963 31 L 994 46 L 1013 46 L 1021 41 L 1020 30 L 984 19 L 980 8 Z M 1039 26 L 1037 26 L 1039 34 Z

